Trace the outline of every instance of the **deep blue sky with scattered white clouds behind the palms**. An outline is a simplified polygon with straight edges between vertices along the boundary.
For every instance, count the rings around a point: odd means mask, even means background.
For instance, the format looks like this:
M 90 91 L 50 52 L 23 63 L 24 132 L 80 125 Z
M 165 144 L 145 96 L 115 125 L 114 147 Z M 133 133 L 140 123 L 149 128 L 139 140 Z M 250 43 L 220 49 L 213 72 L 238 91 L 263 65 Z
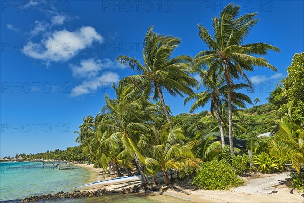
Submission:
M 1 1 L 0 157 L 75 146 L 83 116 L 104 106 L 110 84 L 135 74 L 115 62 L 142 59 L 149 26 L 181 38 L 174 55 L 196 55 L 206 47 L 197 24 L 212 20 L 228 1 Z M 266 58 L 278 72 L 247 73 L 261 104 L 287 75 L 294 53 L 304 50 L 303 1 L 235 1 L 241 13 L 258 12 L 248 42 L 281 49 Z M 183 98 L 164 95 L 173 115 L 188 112 Z M 248 105 L 249 107 L 250 105 Z M 209 106 L 197 110 L 208 110 Z

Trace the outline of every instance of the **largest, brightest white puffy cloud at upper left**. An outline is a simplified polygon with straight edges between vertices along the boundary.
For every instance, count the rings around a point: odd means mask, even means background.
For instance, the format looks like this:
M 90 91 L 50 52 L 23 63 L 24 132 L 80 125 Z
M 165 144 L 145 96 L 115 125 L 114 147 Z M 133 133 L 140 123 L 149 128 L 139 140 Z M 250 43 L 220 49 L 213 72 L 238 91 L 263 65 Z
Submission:
M 23 53 L 31 58 L 43 60 L 47 64 L 54 61 L 67 61 L 79 51 L 93 45 L 93 42 L 102 42 L 103 37 L 90 26 L 81 27 L 73 32 L 67 30 L 48 33 L 45 39 L 37 43 L 30 42 L 31 48 L 24 48 Z

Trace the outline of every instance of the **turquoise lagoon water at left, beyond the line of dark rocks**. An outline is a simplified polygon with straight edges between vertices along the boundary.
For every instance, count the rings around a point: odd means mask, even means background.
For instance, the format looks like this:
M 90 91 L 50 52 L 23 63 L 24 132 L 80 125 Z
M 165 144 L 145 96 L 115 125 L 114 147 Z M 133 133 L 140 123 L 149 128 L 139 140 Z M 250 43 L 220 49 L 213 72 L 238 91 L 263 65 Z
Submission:
M 0 201 L 21 199 L 32 195 L 72 192 L 75 186 L 96 180 L 96 175 L 84 168 L 42 168 L 42 162 L 0 164 Z

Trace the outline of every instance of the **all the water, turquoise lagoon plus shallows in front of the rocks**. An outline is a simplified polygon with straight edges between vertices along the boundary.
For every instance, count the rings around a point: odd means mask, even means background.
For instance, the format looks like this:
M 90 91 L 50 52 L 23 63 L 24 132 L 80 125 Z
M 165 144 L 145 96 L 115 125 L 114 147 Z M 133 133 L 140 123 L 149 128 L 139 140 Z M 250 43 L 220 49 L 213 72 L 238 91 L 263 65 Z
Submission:
M 57 170 L 42 163 L 1 163 L 0 164 L 0 201 L 20 202 L 18 199 L 33 195 L 54 194 L 60 191 L 72 192 L 75 186 L 96 180 L 90 170 L 72 166 L 70 170 Z M 147 194 L 105 195 L 80 199 L 58 199 L 43 202 L 63 203 L 184 203 L 182 199 Z

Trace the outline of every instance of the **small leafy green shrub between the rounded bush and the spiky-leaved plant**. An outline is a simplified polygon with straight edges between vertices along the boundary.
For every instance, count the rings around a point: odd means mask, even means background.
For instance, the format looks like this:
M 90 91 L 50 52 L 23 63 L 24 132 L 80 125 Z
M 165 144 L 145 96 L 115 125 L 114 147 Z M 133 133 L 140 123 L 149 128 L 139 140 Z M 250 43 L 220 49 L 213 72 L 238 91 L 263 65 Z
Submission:
M 250 158 L 247 154 L 233 156 L 231 166 L 236 170 L 237 174 L 243 175 L 250 170 Z

